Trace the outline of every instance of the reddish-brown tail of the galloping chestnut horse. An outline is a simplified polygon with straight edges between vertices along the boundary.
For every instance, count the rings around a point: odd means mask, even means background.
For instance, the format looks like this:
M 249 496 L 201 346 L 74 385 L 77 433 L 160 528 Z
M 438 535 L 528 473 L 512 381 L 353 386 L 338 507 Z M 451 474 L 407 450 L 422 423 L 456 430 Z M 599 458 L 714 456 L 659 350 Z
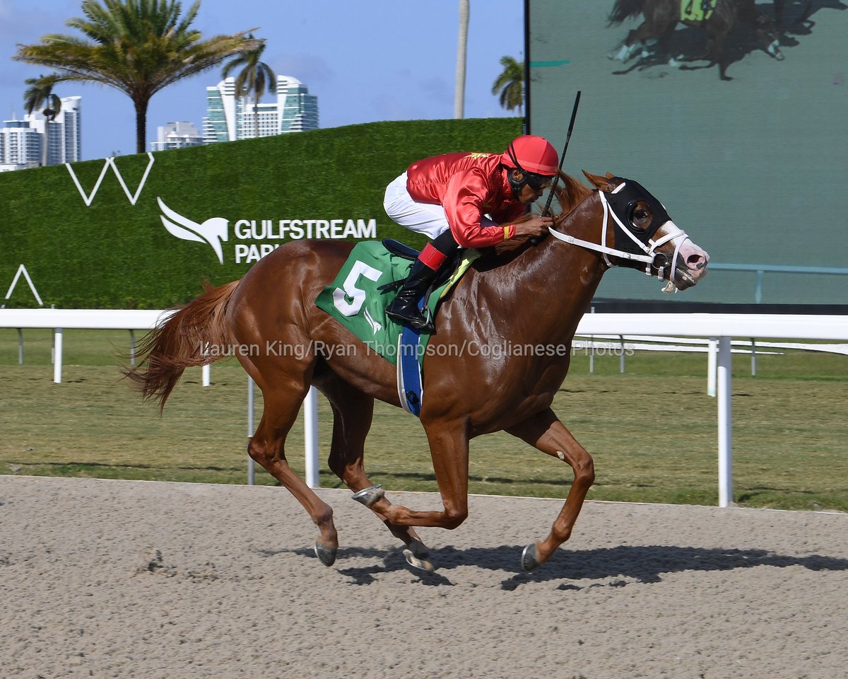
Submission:
M 186 368 L 227 356 L 224 348 L 234 343 L 224 312 L 238 283 L 207 289 L 196 300 L 176 307 L 140 342 L 138 364 L 122 372 L 145 401 L 156 399 L 161 411 Z

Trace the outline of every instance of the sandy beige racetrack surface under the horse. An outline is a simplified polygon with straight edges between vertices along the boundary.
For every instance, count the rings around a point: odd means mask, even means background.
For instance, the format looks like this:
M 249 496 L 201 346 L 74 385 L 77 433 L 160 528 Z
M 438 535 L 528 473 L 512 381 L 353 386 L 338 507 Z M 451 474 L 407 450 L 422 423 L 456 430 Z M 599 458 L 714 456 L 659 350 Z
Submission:
M 331 568 L 282 488 L 0 476 L 0 676 L 848 676 L 848 514 L 589 502 L 527 575 L 561 501 L 473 497 L 427 575 L 320 493 Z

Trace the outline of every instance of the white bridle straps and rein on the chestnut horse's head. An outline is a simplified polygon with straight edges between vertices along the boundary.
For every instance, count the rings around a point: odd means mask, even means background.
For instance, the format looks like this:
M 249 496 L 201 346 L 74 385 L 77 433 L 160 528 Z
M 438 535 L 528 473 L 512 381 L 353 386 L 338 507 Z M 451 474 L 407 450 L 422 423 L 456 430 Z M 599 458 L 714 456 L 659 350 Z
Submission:
M 622 191 L 625 187 L 628 180 L 622 180 L 622 183 L 619 184 L 615 190 L 613 190 L 612 194 L 617 194 Z M 635 184 L 635 182 L 633 182 Z M 636 184 L 639 187 L 638 184 Z M 639 187 L 641 188 L 641 187 Z M 644 189 L 642 189 L 644 191 Z M 644 191 L 647 194 L 647 191 Z M 672 273 L 677 268 L 678 256 L 680 254 L 680 247 L 689 240 L 689 236 L 683 231 L 683 229 L 679 228 L 677 224 L 672 222 L 671 219 L 667 219 L 665 222 L 658 224 L 655 228 L 650 229 L 650 231 L 642 234 L 644 240 L 639 238 L 636 233 L 633 233 L 633 227 L 628 227 L 626 222 L 630 222 L 630 215 L 619 215 L 618 212 L 622 212 L 622 207 L 618 206 L 617 209 L 613 208 L 610 201 L 606 198 L 605 193 L 603 191 L 598 191 L 598 196 L 600 198 L 600 203 L 604 207 L 604 223 L 601 227 L 601 236 L 600 236 L 600 244 L 594 243 L 588 240 L 582 240 L 580 238 L 575 238 L 574 236 L 570 236 L 567 233 L 561 233 L 559 231 L 555 231 L 553 227 L 548 227 L 550 234 L 557 238 L 558 240 L 563 241 L 564 243 L 577 245 L 581 248 L 585 248 L 586 250 L 594 250 L 594 252 L 600 252 L 604 257 L 604 262 L 607 267 L 630 267 L 633 269 L 642 269 L 641 265 L 644 264 L 644 272 L 648 276 L 652 276 L 651 270 L 656 271 L 656 278 L 659 280 L 663 280 L 663 277 L 666 274 L 667 268 L 668 270 L 668 284 L 665 288 L 662 289 L 663 292 L 672 293 L 677 292 L 678 287 L 672 282 Z M 647 194 L 646 198 L 650 198 L 655 201 L 659 205 L 659 201 L 657 201 L 653 196 Z M 662 210 L 664 216 L 667 216 L 665 209 Z M 613 221 L 616 224 L 616 234 L 621 233 L 626 235 L 629 238 L 627 244 L 630 246 L 630 251 L 628 250 L 618 250 L 616 248 L 611 248 L 606 244 L 606 233 L 607 226 L 609 225 L 610 216 L 612 216 Z M 659 231 L 661 228 L 669 229 L 670 233 L 666 233 L 661 236 L 661 238 L 657 238 L 656 240 L 652 238 L 653 234 Z M 667 244 L 669 241 L 675 241 L 674 245 L 674 254 L 672 255 L 671 260 L 669 260 L 668 255 L 662 252 L 656 252 L 656 249 L 661 247 L 661 245 Z M 639 254 L 637 251 L 641 250 L 644 254 Z M 610 255 L 617 257 L 620 261 L 618 263 L 613 263 L 610 260 Z M 670 268 L 669 268 L 670 267 Z

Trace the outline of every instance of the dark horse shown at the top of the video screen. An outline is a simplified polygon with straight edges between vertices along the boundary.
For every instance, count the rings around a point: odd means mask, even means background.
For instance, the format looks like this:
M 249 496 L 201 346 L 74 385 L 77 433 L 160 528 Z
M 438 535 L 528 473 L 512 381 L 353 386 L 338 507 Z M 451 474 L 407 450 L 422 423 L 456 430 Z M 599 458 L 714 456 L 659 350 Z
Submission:
M 621 48 L 612 53 L 610 58 L 624 62 L 631 59 L 635 53 L 640 53 L 642 58 L 645 58 L 650 54 L 649 41 L 656 41 L 657 53 L 667 55 L 674 28 L 678 23 L 683 23 L 706 31 L 704 57 L 711 59 L 707 68 L 717 64 L 719 77 L 722 80 L 732 80 L 727 75 L 729 59 L 726 42 L 728 33 L 734 29 L 737 21 L 741 20 L 754 27 L 757 38 L 768 54 L 775 59 L 784 59 L 773 20 L 756 10 L 754 0 L 717 0 L 715 7 L 708 6 L 709 4 L 703 3 L 704 8 L 700 11 L 704 18 L 692 20 L 683 18 L 684 10 L 691 10 L 695 6 L 700 8 L 701 0 L 690 0 L 688 5 L 680 0 L 616 0 L 609 16 L 609 25 L 621 24 L 622 21 L 639 14 L 644 14 L 644 21 L 628 33 Z M 781 4 L 781 10 L 782 8 Z M 679 65 L 673 56 L 668 63 Z

